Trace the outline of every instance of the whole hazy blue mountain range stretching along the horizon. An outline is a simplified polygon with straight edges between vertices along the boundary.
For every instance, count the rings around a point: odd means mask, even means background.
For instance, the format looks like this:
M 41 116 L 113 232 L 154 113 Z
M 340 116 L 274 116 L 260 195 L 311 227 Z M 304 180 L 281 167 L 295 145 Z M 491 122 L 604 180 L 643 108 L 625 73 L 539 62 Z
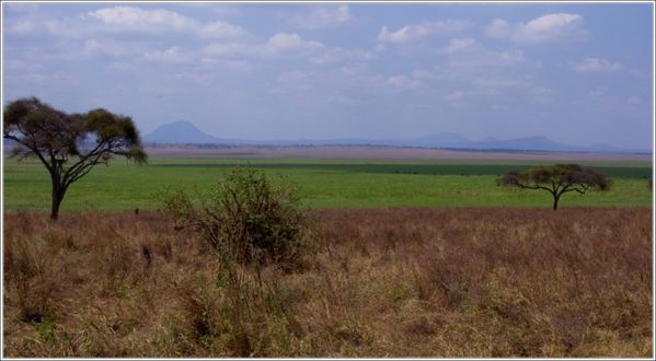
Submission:
M 145 143 L 160 144 L 227 144 L 227 145 L 387 145 L 445 148 L 462 150 L 509 150 L 509 151 L 552 151 L 552 152 L 595 152 L 595 153 L 649 153 L 644 149 L 623 149 L 607 144 L 588 147 L 559 143 L 543 136 L 516 139 L 484 138 L 471 140 L 460 133 L 444 132 L 414 139 L 368 140 L 345 139 L 296 139 L 296 140 L 244 140 L 217 138 L 198 129 L 189 121 L 165 124 L 143 137 Z

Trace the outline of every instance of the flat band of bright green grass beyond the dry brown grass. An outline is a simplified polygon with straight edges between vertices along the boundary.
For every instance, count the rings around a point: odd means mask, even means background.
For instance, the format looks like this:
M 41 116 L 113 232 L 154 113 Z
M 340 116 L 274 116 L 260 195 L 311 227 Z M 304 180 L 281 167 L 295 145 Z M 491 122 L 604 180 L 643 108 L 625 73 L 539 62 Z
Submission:
M 550 207 L 544 191 L 504 189 L 496 178 L 541 162 L 158 159 L 138 166 L 116 161 L 96 166 L 73 184 L 61 210 L 157 209 L 166 187 L 206 190 L 237 164 L 284 175 L 312 208 L 369 207 Z M 543 163 L 543 162 L 542 162 Z M 561 207 L 649 207 L 649 163 L 585 163 L 608 175 L 607 193 L 567 194 Z M 49 211 L 49 176 L 36 161 L 4 160 L 5 212 Z

